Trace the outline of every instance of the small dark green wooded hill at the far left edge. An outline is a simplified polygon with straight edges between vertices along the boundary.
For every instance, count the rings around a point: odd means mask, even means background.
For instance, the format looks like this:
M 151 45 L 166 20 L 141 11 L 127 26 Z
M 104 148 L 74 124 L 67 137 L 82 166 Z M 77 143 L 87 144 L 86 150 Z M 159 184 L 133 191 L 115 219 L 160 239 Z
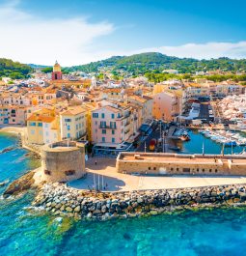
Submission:
M 12 79 L 22 79 L 29 77 L 31 71 L 33 70 L 28 65 L 0 58 L 0 77 L 8 76 Z

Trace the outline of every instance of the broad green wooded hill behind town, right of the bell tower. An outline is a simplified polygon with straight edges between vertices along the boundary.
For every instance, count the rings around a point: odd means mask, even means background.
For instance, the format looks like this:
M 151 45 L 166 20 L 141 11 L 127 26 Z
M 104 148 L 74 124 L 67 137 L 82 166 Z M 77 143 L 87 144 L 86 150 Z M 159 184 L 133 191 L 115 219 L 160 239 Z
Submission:
M 196 60 L 193 58 L 167 56 L 159 52 L 147 52 L 131 56 L 113 56 L 102 61 L 67 68 L 68 71 L 86 72 L 98 72 L 101 69 L 110 71 L 122 70 L 132 74 L 163 70 L 178 70 L 180 73 L 211 70 L 245 71 L 246 60 L 233 60 L 229 58 Z

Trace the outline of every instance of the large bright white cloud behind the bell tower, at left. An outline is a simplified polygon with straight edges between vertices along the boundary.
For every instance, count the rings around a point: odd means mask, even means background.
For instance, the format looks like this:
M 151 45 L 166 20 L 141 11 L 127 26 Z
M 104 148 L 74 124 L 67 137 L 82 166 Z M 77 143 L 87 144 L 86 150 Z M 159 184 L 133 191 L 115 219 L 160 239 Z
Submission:
M 97 55 L 90 44 L 114 31 L 108 22 L 90 23 L 83 17 L 43 19 L 17 8 L 18 1 L 0 6 L 0 56 L 23 63 L 63 66 L 87 63 Z

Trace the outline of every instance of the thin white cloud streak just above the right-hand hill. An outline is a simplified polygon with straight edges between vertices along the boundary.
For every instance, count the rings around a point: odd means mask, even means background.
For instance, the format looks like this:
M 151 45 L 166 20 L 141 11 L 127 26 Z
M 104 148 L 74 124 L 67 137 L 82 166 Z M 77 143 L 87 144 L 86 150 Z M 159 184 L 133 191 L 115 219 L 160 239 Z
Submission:
M 246 41 L 238 43 L 187 43 L 178 46 L 161 46 L 137 52 L 161 52 L 170 56 L 211 59 L 219 57 L 246 58 Z

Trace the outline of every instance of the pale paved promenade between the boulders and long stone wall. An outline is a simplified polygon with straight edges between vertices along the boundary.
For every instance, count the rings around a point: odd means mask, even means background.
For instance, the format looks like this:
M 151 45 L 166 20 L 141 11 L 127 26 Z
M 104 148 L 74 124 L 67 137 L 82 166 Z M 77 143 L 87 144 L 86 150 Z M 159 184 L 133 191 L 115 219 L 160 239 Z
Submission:
M 116 159 L 90 158 L 86 162 L 88 175 L 85 179 L 69 183 L 70 186 L 88 189 L 96 185 L 105 187 L 104 191 L 120 191 L 135 189 L 160 189 L 196 187 L 206 185 L 246 184 L 246 177 L 238 176 L 133 176 L 116 171 Z

